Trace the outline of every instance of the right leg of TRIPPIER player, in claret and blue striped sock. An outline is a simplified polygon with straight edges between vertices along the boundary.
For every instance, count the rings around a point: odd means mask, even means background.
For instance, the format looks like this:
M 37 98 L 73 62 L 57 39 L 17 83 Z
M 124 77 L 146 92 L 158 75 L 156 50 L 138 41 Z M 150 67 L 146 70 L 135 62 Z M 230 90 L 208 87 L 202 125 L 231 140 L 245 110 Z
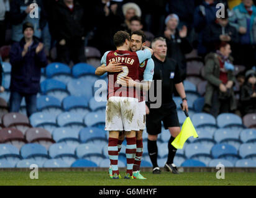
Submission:
M 132 168 L 134 167 L 134 158 L 136 153 L 136 132 L 135 131 L 126 131 L 126 179 L 133 179 Z

